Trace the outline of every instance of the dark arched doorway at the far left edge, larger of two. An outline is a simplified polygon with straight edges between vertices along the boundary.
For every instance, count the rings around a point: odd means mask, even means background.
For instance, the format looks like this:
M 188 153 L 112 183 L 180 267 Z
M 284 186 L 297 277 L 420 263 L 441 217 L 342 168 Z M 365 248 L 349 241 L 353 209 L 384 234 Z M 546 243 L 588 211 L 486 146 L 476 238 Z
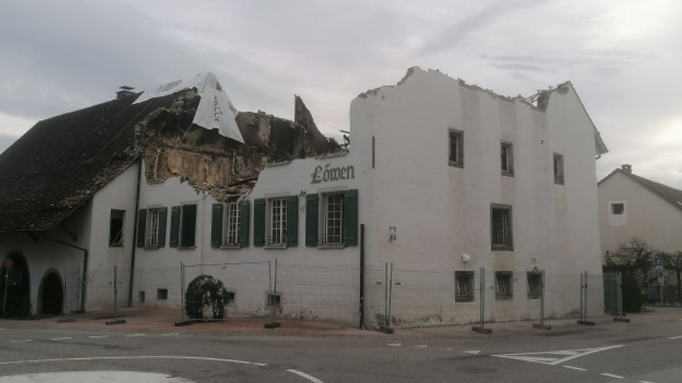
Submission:
M 11 262 L 6 263 L 6 260 Z M 5 280 L 8 274 L 5 265 L 11 265 L 13 270 L 9 281 Z M 5 297 L 7 301 L 4 301 Z M 0 313 L 4 318 L 31 315 L 31 280 L 28 263 L 26 257 L 16 250 L 9 252 L 0 262 L 0 303 Z

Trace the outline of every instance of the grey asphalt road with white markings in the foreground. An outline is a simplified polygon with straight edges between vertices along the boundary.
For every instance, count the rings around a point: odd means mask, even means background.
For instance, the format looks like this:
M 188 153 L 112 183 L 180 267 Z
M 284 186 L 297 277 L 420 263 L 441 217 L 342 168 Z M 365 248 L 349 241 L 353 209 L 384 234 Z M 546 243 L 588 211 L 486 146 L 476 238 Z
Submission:
M 682 382 L 682 310 L 679 320 L 651 326 L 428 340 L 399 333 L 349 339 L 5 328 L 0 383 Z

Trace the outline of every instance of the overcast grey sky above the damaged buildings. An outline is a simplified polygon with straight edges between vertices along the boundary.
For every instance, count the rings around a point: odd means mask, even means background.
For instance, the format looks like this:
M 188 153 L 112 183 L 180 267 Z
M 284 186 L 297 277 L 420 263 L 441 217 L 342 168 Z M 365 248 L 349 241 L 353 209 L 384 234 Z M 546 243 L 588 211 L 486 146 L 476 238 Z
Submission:
M 347 129 L 418 65 L 497 93 L 570 80 L 610 152 L 682 189 L 682 1 L 37 1 L 0 5 L 0 151 L 36 121 L 214 72 L 237 109 Z

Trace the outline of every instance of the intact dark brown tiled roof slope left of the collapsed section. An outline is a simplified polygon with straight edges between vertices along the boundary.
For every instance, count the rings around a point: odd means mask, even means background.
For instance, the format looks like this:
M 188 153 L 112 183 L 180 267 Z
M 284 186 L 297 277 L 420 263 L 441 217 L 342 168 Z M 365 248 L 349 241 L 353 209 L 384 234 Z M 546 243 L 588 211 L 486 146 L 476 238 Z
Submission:
M 36 123 L 0 154 L 0 231 L 52 228 L 139 157 L 136 123 L 179 94 L 137 94 Z

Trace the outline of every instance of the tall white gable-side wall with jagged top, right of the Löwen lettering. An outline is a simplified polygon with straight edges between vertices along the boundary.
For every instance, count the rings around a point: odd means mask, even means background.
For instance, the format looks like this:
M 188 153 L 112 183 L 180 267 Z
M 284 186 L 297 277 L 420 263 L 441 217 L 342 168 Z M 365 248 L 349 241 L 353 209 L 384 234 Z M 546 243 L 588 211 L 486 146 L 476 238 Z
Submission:
M 538 316 L 539 301 L 526 296 L 526 272 L 537 266 L 547 270 L 547 313 L 578 310 L 579 273 L 600 274 L 600 253 L 594 129 L 570 85 L 554 92 L 543 112 L 417 69 L 397 87 L 355 99 L 351 125 L 351 148 L 363 158 L 371 156 L 375 139 L 365 196 L 370 265 L 513 271 L 516 294 L 509 301 L 491 299 L 494 277 L 487 277 L 487 313 L 497 320 Z M 464 132 L 463 168 L 448 166 L 449 128 Z M 514 144 L 514 177 L 500 174 L 500 140 Z M 564 156 L 565 185 L 553 182 L 554 152 Z M 514 251 L 491 250 L 492 203 L 513 206 Z M 397 228 L 395 241 L 388 240 L 389 226 Z M 472 260 L 462 262 L 464 253 Z M 433 298 L 429 315 L 412 310 L 419 302 L 409 300 L 418 298 L 405 296 L 394 315 L 408 320 L 465 322 L 478 314 L 478 299 L 453 304 Z M 600 312 L 600 301 L 592 299 L 593 313 Z

